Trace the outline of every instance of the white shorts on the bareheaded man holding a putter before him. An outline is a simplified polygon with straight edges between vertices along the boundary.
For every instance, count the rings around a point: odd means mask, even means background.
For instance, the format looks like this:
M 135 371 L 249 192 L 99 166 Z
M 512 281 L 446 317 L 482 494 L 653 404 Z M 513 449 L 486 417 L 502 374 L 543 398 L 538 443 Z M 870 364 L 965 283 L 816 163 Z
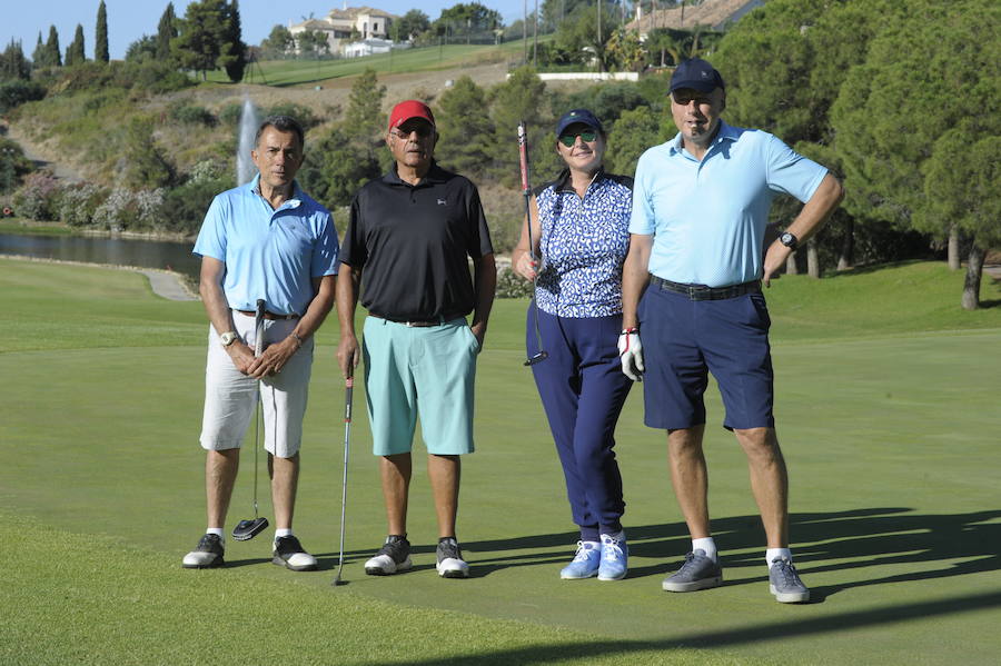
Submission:
M 251 348 L 255 345 L 254 317 L 232 314 L 236 332 Z M 264 345 L 288 337 L 297 319 L 265 320 Z M 281 372 L 260 380 L 265 450 L 279 458 L 291 458 L 303 443 L 303 417 L 313 370 L 313 337 L 303 342 Z M 258 380 L 236 369 L 229 352 L 209 325 L 208 360 L 205 369 L 205 414 L 201 420 L 201 448 L 239 448 L 254 417 Z

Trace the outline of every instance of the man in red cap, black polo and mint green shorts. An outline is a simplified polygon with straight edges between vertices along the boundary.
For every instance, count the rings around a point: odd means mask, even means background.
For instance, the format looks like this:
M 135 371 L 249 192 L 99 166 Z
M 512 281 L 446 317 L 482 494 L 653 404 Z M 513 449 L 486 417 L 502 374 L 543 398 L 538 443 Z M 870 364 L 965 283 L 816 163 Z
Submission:
M 386 145 L 396 163 L 355 195 L 340 252 L 337 358 L 347 378 L 365 356 L 373 449 L 381 456 L 389 523 L 381 549 L 365 563 L 374 576 L 412 566 L 407 497 L 418 415 L 438 518 L 438 575 L 469 574 L 455 538 L 459 456 L 473 451 L 476 355 L 497 270 L 479 193 L 466 178 L 437 166 L 437 140 L 426 105 L 408 100 L 394 107 Z M 368 318 L 359 347 L 354 321 L 363 272 Z

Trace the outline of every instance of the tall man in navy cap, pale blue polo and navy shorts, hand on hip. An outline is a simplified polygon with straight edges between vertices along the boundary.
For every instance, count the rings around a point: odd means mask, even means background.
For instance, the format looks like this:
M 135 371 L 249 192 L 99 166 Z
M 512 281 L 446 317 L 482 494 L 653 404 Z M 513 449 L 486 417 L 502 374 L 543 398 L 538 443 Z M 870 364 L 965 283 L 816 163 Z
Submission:
M 723 122 L 723 78 L 705 60 L 682 62 L 670 95 L 678 133 L 636 167 L 620 336 L 623 371 L 645 379 L 646 425 L 667 430 L 674 493 L 692 536 L 692 551 L 663 588 L 694 592 L 723 580 L 702 450 L 712 372 L 726 408 L 723 425 L 747 456 L 771 593 L 782 603 L 806 602 L 810 590 L 789 549 L 789 479 L 772 416 L 761 284 L 820 229 L 843 192 L 824 167 L 772 135 Z M 804 206 L 762 259 L 769 209 L 783 193 Z

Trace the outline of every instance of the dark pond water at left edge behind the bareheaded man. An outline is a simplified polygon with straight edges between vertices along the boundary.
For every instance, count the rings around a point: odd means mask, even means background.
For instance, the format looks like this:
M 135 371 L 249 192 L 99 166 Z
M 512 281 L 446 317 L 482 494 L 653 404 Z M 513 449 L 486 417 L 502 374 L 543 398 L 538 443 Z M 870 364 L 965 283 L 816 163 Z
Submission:
M 0 255 L 161 268 L 191 276 L 197 280 L 201 259 L 191 254 L 194 245 L 194 241 L 137 238 L 0 233 Z

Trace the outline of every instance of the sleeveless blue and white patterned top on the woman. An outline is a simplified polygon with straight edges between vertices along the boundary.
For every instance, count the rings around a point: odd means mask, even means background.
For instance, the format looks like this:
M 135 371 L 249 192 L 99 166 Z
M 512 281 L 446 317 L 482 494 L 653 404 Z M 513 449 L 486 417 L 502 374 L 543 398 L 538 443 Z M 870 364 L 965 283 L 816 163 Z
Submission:
M 542 261 L 535 297 L 544 311 L 558 317 L 622 312 L 632 186 L 632 178 L 599 171 L 582 198 L 564 170 L 536 190 Z

